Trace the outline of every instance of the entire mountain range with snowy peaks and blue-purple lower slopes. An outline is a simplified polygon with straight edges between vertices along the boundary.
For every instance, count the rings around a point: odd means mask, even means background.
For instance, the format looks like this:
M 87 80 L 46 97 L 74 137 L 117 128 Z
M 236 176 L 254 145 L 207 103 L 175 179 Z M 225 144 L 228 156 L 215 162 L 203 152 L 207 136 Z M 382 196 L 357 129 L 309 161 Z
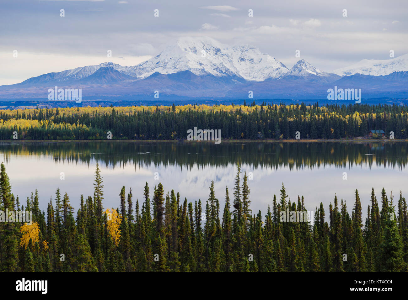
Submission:
M 362 97 L 408 96 L 408 54 L 361 60 L 332 73 L 304 59 L 291 69 L 249 45 L 180 38 L 136 66 L 104 62 L 0 86 L 0 99 L 47 100 L 48 88 L 82 88 L 83 99 L 327 99 L 327 89 L 361 88 Z

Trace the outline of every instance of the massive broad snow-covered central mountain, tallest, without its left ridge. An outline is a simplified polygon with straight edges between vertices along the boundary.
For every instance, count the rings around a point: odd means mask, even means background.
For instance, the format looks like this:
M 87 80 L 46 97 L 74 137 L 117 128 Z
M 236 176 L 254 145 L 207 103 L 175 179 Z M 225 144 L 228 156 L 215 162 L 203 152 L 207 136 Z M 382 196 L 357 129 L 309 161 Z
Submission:
M 211 74 L 264 81 L 282 76 L 288 68 L 254 46 L 229 47 L 208 37 L 185 37 L 168 44 L 164 51 L 146 62 L 129 68 L 129 75 L 143 79 L 155 72 L 180 71 L 191 71 L 198 76 Z

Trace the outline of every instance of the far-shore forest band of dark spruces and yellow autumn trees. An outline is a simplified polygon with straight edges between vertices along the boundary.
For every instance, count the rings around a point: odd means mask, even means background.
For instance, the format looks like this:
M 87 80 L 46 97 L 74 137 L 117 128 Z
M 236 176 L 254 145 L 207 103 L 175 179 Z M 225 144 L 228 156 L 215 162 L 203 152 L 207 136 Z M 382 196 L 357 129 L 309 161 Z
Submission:
M 220 129 L 224 140 L 294 139 L 297 131 L 300 139 L 351 139 L 370 130 L 406 139 L 408 107 L 253 103 L 0 110 L 3 140 L 106 140 L 108 132 L 114 140 L 186 139 L 194 127 Z

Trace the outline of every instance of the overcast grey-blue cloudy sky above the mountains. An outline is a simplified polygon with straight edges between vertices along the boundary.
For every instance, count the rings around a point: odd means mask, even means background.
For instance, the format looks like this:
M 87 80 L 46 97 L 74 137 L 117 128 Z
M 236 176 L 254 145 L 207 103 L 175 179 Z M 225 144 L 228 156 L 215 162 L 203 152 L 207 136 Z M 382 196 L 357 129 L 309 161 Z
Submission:
M 1 0 L 0 85 L 107 61 L 133 66 L 182 36 L 254 45 L 288 68 L 300 50 L 300 58 L 327 72 L 389 59 L 390 50 L 408 53 L 406 0 L 140 2 Z

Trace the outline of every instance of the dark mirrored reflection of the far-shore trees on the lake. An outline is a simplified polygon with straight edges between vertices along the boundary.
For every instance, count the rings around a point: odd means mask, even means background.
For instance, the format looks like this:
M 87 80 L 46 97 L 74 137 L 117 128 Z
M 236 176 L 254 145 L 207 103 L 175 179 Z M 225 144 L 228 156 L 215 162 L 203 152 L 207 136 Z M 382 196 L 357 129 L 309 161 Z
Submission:
M 52 157 L 55 162 L 86 163 L 97 159 L 106 166 L 163 164 L 192 168 L 226 167 L 244 163 L 253 167 L 324 168 L 347 166 L 405 167 L 405 141 L 396 142 L 13 142 L 0 143 L 4 161 L 13 155 Z

